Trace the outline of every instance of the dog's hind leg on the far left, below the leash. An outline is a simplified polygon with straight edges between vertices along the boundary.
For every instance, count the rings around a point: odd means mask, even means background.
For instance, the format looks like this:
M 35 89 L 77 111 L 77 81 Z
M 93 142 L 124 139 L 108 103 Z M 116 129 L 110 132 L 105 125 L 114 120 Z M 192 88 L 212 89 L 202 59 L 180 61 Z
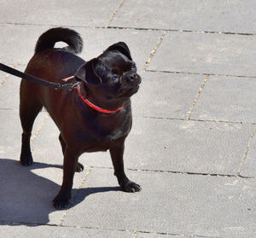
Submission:
M 29 86 L 22 79 L 20 83 L 20 123 L 23 130 L 20 153 L 21 165 L 32 165 L 33 160 L 30 148 L 32 125 L 43 107 L 33 92 L 32 87 L 29 90 Z

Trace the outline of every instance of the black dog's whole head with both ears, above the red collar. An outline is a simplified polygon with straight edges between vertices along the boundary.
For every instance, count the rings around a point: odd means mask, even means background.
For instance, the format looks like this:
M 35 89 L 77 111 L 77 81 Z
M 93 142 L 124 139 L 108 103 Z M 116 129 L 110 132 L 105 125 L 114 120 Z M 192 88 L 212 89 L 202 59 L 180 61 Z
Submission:
M 75 78 L 97 102 L 124 102 L 139 89 L 142 79 L 128 46 L 119 42 L 79 67 Z

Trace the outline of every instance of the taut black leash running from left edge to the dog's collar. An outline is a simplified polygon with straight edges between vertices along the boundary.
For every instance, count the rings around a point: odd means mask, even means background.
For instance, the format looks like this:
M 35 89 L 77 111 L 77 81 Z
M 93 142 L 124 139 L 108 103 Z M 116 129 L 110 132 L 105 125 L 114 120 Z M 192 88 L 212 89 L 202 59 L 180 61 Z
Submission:
M 22 73 L 19 70 L 16 70 L 15 68 L 12 68 L 12 67 L 8 67 L 8 66 L 6 66 L 2 63 L 0 63 L 0 70 L 4 71 L 6 73 L 10 73 L 12 75 L 15 75 L 19 78 L 24 78 L 28 81 L 31 81 L 31 82 L 34 82 L 34 83 L 37 83 L 37 84 L 43 84 L 44 86 L 53 88 L 55 90 L 65 90 L 65 89 L 66 90 L 73 90 L 74 86 L 76 85 L 76 84 L 58 84 L 58 83 L 48 82 L 48 81 L 45 81 L 42 78 L 38 78 L 38 77 L 32 76 L 32 75 L 27 74 L 27 73 Z

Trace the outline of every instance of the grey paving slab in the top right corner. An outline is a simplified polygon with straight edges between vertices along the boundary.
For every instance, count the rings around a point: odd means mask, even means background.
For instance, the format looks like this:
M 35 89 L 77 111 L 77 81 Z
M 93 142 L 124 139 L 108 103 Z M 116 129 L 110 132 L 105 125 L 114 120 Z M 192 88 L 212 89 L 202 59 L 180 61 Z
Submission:
M 249 0 L 131 0 L 110 26 L 255 34 L 255 11 Z

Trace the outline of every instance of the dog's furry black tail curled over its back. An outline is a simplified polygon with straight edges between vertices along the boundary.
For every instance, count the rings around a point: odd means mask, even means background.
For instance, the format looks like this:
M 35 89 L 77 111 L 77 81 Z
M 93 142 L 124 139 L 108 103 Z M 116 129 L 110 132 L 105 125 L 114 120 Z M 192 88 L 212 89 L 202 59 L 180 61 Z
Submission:
M 61 48 L 63 51 L 79 54 L 83 49 L 83 39 L 80 37 L 78 32 L 68 28 L 56 27 L 49 29 L 47 32 L 44 32 L 38 38 L 35 54 L 43 51 L 44 49 L 54 48 L 55 43 L 59 41 L 68 44 L 67 47 Z

